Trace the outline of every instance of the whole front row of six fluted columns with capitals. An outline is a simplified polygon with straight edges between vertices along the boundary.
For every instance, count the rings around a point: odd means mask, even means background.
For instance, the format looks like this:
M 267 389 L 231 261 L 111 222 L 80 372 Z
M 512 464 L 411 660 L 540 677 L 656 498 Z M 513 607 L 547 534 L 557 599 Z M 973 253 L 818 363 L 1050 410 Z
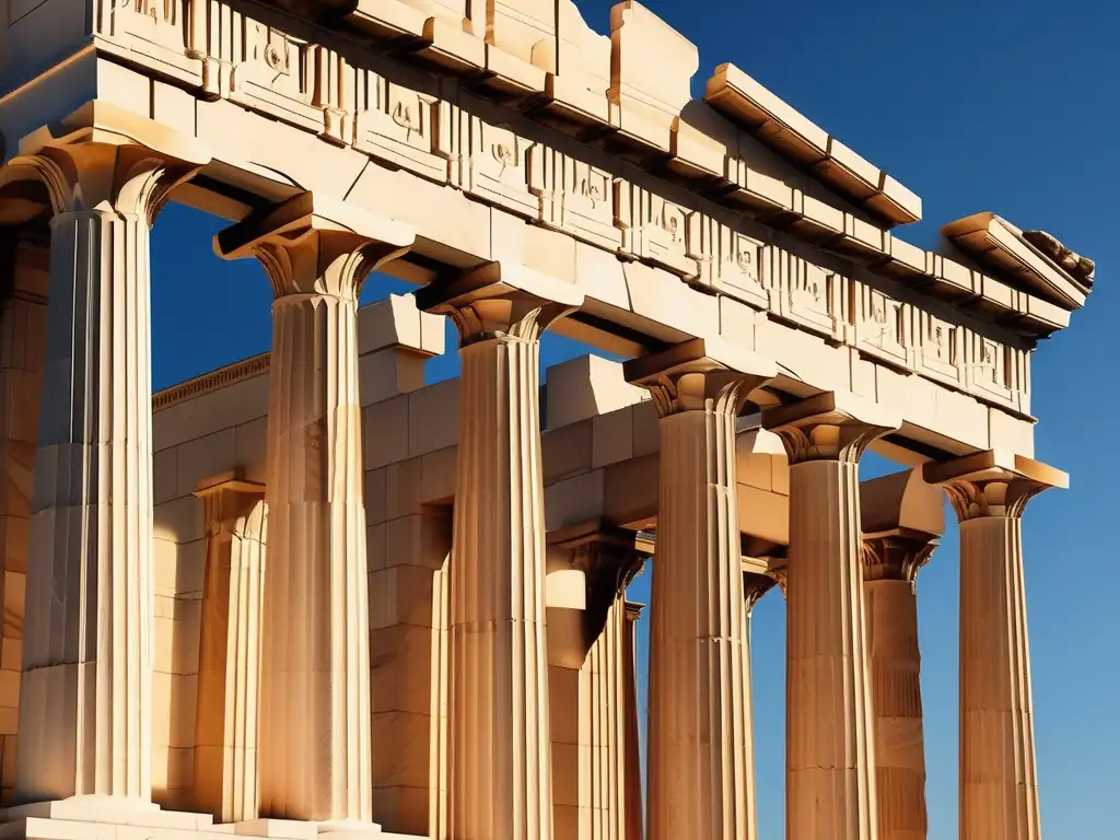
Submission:
M 53 212 L 17 795 L 150 810 L 148 234 L 199 162 L 90 142 L 15 166 L 49 186 Z M 263 645 L 245 647 L 260 656 L 261 736 L 241 754 L 255 748 L 260 801 L 231 765 L 233 819 L 373 819 L 356 307 L 365 277 L 411 244 L 400 225 L 309 195 L 216 240 L 223 256 L 259 259 L 276 295 Z M 550 840 L 539 340 L 582 295 L 492 264 L 417 300 L 455 321 L 463 358 L 447 833 Z M 696 339 L 626 374 L 652 393 L 661 430 L 647 837 L 749 840 L 762 585 L 741 573 L 735 422 L 777 367 Z M 787 837 L 924 837 L 913 577 L 928 545 L 865 544 L 859 508 L 860 457 L 900 419 L 824 393 L 763 422 L 790 460 Z M 1035 840 L 1020 517 L 1057 482 L 998 452 L 931 463 L 925 477 L 961 519 L 961 838 Z M 214 492 L 209 503 L 228 498 Z

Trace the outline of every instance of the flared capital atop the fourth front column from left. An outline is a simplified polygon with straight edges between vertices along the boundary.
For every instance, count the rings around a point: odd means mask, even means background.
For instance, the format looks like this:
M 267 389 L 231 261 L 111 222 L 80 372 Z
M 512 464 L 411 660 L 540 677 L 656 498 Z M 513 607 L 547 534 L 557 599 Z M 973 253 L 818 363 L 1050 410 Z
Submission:
M 628 383 L 650 391 L 663 418 L 704 410 L 735 417 L 752 391 L 777 375 L 773 361 L 712 338 L 633 358 L 623 370 Z

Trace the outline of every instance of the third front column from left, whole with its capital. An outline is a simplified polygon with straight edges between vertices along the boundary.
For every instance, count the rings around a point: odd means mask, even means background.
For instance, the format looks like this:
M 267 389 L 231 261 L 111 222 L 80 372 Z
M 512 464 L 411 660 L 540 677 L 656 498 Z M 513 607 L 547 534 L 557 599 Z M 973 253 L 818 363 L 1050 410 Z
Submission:
M 417 292 L 458 327 L 450 591 L 451 840 L 550 840 L 540 336 L 573 287 L 497 263 Z

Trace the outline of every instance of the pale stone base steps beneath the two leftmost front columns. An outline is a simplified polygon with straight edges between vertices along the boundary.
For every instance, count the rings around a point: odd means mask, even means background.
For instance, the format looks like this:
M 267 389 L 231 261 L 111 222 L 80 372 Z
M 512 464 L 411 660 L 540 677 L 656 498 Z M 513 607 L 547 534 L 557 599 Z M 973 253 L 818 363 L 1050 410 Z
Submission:
M 211 814 L 137 804 L 114 797 L 75 797 L 9 808 L 0 812 L 0 840 L 427 840 L 383 832 L 374 822 L 261 819 L 214 824 Z

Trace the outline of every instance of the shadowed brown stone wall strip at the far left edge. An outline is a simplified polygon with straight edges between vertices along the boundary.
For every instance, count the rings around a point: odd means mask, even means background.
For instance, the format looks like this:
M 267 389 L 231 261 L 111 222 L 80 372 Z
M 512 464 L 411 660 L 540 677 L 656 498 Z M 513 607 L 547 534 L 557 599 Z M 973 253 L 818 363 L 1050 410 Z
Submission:
M 2 46 L 2 44 L 0 44 Z M 47 252 L 0 242 L 0 804 L 16 775 L 31 472 L 46 336 Z

